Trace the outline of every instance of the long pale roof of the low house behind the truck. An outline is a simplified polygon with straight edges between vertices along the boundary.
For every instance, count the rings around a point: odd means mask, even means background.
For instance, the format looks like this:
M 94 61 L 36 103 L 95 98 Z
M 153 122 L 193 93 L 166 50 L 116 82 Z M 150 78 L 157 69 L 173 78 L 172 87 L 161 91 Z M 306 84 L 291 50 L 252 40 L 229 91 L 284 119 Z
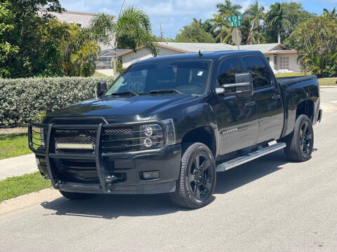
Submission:
M 168 48 L 171 50 L 176 50 L 178 52 L 213 52 L 220 50 L 237 50 L 237 45 L 228 45 L 226 43 L 176 43 L 176 42 L 157 42 L 157 45 L 161 48 Z M 143 48 L 143 47 L 140 47 Z M 140 49 L 138 48 L 138 49 Z M 282 43 L 265 43 L 259 45 L 240 45 L 240 50 L 259 50 L 263 53 L 273 51 L 277 48 L 282 48 L 282 50 L 287 50 L 291 52 L 293 50 L 289 50 Z M 278 50 L 277 50 L 278 51 Z M 125 52 L 121 52 L 117 56 L 126 55 L 129 52 L 133 52 L 133 50 L 127 50 Z

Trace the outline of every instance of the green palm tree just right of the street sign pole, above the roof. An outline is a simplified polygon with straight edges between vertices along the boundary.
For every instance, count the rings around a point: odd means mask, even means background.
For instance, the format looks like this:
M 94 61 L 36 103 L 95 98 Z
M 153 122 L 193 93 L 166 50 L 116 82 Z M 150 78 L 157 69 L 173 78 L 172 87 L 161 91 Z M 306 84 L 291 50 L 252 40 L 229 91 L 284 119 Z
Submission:
M 263 22 L 265 20 L 265 8 L 263 6 L 258 5 L 258 1 L 256 0 L 255 3 L 251 4 L 248 8 L 246 8 L 244 15 L 246 16 L 245 23 L 248 23 L 247 25 L 244 25 L 246 29 L 248 28 L 249 37 L 247 37 L 247 43 L 258 43 L 260 44 L 260 40 L 263 37 Z

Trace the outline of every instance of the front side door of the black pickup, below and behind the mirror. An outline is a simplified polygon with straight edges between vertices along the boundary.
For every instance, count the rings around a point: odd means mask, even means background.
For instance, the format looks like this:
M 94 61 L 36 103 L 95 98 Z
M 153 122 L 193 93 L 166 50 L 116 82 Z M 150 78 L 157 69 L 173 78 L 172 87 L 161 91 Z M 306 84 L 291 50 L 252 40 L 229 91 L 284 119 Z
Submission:
M 235 83 L 235 73 L 242 73 L 236 58 L 220 63 L 217 87 Z M 258 108 L 251 96 L 216 94 L 214 106 L 220 136 L 220 155 L 253 146 L 258 141 Z

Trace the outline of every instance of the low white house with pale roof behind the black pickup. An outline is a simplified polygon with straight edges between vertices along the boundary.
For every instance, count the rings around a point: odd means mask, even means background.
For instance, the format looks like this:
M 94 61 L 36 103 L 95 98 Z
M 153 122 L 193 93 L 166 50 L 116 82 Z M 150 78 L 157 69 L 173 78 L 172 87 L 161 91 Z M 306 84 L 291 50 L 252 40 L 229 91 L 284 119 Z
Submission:
M 225 43 L 174 43 L 157 42 L 159 46 L 159 55 L 176 55 L 189 52 L 213 52 L 219 50 L 237 50 L 236 45 L 227 45 Z M 267 57 L 273 71 L 293 71 L 300 72 L 300 64 L 297 60 L 297 50 L 289 50 L 282 43 L 266 43 L 260 45 L 240 45 L 240 50 L 260 50 Z M 117 55 L 126 68 L 142 59 L 153 57 L 150 50 L 142 47 L 136 52 L 125 50 Z

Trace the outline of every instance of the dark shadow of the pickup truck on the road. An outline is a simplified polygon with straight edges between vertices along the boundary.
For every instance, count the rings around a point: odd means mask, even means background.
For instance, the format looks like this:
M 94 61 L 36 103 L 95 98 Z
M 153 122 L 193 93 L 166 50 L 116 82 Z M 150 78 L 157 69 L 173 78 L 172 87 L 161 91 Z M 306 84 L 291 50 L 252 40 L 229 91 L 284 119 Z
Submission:
M 244 186 L 277 170 L 286 163 L 283 151 L 277 151 L 258 160 L 246 163 L 227 172 L 217 174 L 216 194 Z M 120 216 L 159 216 L 176 211 L 188 211 L 175 207 L 167 194 L 161 195 L 97 195 L 90 200 L 72 201 L 60 197 L 43 202 L 45 209 L 55 211 L 52 215 L 115 219 Z

